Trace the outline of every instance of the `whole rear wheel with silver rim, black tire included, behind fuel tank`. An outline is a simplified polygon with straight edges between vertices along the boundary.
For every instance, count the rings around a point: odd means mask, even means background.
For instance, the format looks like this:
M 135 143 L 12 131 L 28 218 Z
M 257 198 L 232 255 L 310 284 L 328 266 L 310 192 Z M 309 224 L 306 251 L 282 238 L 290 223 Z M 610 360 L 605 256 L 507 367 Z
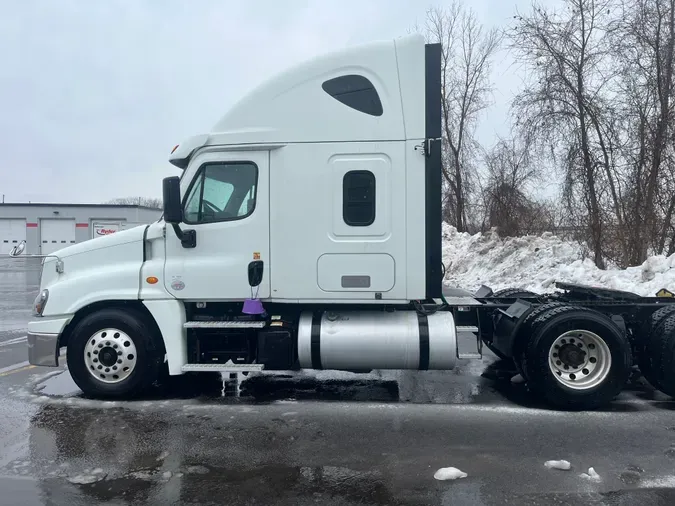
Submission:
M 621 392 L 630 374 L 631 348 L 608 317 L 558 306 L 528 325 L 522 366 L 534 393 L 560 408 L 593 409 Z

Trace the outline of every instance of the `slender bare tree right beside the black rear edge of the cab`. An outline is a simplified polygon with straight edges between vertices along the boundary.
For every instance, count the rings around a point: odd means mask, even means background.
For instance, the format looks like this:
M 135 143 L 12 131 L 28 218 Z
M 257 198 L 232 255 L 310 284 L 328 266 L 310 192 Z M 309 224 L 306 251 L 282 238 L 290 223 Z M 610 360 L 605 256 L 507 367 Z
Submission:
M 478 156 L 475 129 L 489 105 L 492 59 L 501 39 L 497 29 L 486 30 L 459 2 L 427 11 L 425 32 L 441 44 L 444 214 L 464 231 Z

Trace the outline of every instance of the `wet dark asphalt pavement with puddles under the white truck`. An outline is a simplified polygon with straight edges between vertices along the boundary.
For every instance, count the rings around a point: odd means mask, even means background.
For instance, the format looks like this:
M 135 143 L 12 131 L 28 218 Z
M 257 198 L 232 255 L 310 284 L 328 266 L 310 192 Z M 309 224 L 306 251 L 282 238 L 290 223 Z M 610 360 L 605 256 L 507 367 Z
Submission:
M 85 399 L 64 368 L 23 364 L 39 261 L 14 262 L 0 259 L 0 506 L 675 504 L 675 402 L 640 381 L 583 413 L 533 403 L 490 357 Z M 435 480 L 448 466 L 468 477 Z

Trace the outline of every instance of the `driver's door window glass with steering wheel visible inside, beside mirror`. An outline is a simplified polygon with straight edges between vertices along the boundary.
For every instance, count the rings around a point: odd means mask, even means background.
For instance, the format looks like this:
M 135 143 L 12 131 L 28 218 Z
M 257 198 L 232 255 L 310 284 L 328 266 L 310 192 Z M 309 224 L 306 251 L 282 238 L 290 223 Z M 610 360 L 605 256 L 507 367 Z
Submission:
M 185 200 L 185 223 L 246 218 L 255 210 L 257 183 L 258 167 L 252 162 L 202 165 Z

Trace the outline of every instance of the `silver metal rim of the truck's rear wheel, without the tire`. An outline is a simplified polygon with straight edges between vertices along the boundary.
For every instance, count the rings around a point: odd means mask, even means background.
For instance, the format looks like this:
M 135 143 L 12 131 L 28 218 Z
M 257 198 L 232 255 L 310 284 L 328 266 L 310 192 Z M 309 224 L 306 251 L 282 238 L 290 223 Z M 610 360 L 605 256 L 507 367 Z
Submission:
M 559 383 L 574 390 L 589 390 L 607 378 L 612 354 L 599 335 L 588 330 L 570 330 L 551 345 L 548 366 Z

